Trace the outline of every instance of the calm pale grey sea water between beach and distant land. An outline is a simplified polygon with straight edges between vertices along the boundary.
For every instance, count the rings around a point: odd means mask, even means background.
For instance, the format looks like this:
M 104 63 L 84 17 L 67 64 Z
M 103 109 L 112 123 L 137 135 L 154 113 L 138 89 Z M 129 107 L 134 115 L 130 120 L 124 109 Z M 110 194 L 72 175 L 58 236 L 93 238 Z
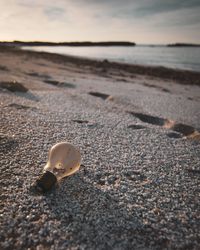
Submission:
M 63 55 L 81 56 L 93 59 L 107 59 L 129 64 L 164 66 L 200 72 L 200 47 L 68 47 L 41 46 L 24 47 L 34 51 L 46 51 Z

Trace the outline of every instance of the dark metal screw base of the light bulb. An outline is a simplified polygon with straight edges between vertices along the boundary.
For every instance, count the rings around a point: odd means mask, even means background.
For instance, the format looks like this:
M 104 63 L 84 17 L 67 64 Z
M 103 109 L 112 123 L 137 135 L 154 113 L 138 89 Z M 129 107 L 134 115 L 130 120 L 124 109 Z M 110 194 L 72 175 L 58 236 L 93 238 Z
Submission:
M 54 174 L 46 171 L 39 179 L 36 180 L 35 188 L 37 191 L 45 193 L 49 191 L 57 182 Z

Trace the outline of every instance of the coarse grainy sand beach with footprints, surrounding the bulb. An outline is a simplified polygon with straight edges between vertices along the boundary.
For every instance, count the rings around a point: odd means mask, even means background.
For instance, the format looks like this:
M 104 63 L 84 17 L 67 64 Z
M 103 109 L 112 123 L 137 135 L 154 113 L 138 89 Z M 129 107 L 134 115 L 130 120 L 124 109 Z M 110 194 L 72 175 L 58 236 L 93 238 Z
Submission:
M 0 48 L 1 249 L 199 249 L 200 73 Z M 31 185 L 69 141 L 80 170 Z

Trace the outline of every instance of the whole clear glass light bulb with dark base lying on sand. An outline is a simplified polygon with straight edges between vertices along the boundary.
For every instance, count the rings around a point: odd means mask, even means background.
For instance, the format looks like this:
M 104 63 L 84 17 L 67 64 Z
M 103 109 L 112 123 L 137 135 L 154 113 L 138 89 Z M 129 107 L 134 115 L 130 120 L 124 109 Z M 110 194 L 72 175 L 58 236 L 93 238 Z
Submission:
M 78 171 L 80 164 L 81 154 L 77 148 L 68 142 L 55 144 L 49 151 L 43 175 L 36 181 L 37 190 L 48 191 L 57 181 Z

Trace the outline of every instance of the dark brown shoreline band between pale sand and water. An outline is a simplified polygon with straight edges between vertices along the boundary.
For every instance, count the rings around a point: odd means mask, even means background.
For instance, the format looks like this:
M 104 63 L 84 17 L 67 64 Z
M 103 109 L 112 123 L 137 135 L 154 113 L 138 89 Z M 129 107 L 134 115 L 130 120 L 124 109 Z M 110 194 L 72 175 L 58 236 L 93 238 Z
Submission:
M 3 52 L 4 50 L 5 52 L 10 51 L 11 53 L 15 54 L 30 55 L 36 58 L 43 58 L 61 64 L 73 63 L 75 65 L 86 65 L 93 68 L 102 68 L 102 70 L 114 69 L 131 74 L 145 75 L 150 77 L 152 76 L 165 80 L 173 80 L 180 84 L 185 84 L 185 85 L 200 86 L 200 72 L 196 71 L 171 69 L 163 66 L 145 66 L 145 65 L 110 62 L 107 59 L 105 60 L 89 59 L 79 56 L 60 55 L 49 52 L 36 52 L 30 50 L 22 50 L 19 48 L 10 48 L 10 47 L 8 48 L 0 46 L 0 52 Z

